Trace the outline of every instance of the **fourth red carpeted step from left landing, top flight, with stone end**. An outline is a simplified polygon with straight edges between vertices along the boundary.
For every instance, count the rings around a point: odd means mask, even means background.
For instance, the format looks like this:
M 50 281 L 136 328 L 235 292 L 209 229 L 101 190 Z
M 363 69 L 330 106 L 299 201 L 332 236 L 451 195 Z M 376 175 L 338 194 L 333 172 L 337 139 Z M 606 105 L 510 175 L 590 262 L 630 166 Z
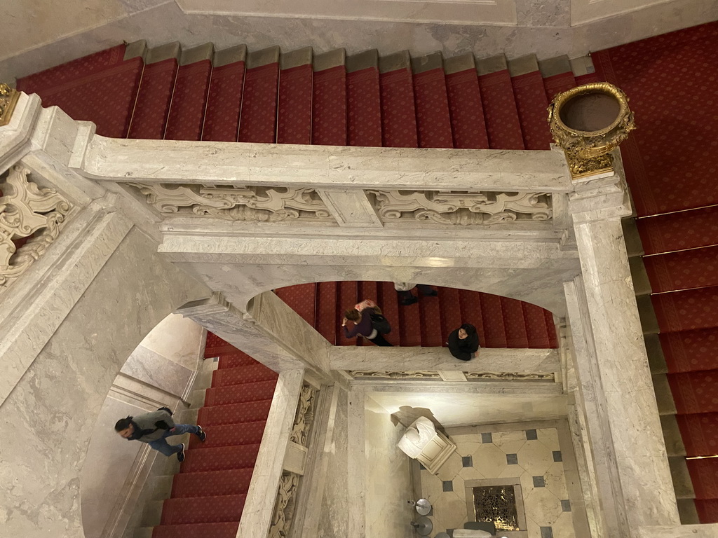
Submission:
M 250 52 L 244 75 L 240 142 L 276 142 L 279 47 Z

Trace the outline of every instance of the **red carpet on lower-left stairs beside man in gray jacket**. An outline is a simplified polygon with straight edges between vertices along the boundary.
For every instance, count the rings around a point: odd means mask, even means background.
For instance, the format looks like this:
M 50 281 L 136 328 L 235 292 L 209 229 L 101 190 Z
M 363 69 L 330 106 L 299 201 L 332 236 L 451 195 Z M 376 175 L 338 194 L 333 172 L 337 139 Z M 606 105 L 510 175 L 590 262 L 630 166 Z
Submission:
M 197 416 L 207 439 L 190 436 L 153 538 L 234 538 L 242 516 L 278 376 L 214 334 L 207 344 L 219 356 Z

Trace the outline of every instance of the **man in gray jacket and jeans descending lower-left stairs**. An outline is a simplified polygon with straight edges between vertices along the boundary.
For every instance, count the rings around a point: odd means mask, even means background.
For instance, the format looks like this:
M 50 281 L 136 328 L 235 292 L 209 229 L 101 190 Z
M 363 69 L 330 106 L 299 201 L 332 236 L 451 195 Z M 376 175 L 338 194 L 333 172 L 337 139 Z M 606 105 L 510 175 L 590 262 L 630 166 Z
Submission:
M 164 456 L 177 454 L 179 461 L 185 461 L 185 443 L 170 445 L 165 438 L 183 433 L 194 433 L 202 443 L 207 438 L 200 425 L 175 424 L 172 420 L 172 411 L 167 407 L 160 407 L 157 411 L 136 417 L 121 418 L 115 424 L 115 431 L 127 440 L 147 443 Z

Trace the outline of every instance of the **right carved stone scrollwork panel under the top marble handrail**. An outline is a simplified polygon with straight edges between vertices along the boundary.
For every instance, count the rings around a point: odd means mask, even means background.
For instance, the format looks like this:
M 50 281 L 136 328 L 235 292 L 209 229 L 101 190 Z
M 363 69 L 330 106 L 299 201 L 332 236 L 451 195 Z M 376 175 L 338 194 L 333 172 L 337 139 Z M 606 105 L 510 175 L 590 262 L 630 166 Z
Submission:
M 453 192 L 370 190 L 383 222 L 430 220 L 442 225 L 493 225 L 514 220 L 550 220 L 545 192 Z

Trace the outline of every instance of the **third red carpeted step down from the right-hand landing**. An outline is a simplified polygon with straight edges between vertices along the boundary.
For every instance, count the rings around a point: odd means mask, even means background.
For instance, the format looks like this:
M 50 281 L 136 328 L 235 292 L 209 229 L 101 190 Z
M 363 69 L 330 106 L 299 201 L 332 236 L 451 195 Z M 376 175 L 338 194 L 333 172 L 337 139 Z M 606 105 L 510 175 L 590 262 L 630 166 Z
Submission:
M 718 326 L 718 287 L 657 293 L 651 296 L 661 332 Z

